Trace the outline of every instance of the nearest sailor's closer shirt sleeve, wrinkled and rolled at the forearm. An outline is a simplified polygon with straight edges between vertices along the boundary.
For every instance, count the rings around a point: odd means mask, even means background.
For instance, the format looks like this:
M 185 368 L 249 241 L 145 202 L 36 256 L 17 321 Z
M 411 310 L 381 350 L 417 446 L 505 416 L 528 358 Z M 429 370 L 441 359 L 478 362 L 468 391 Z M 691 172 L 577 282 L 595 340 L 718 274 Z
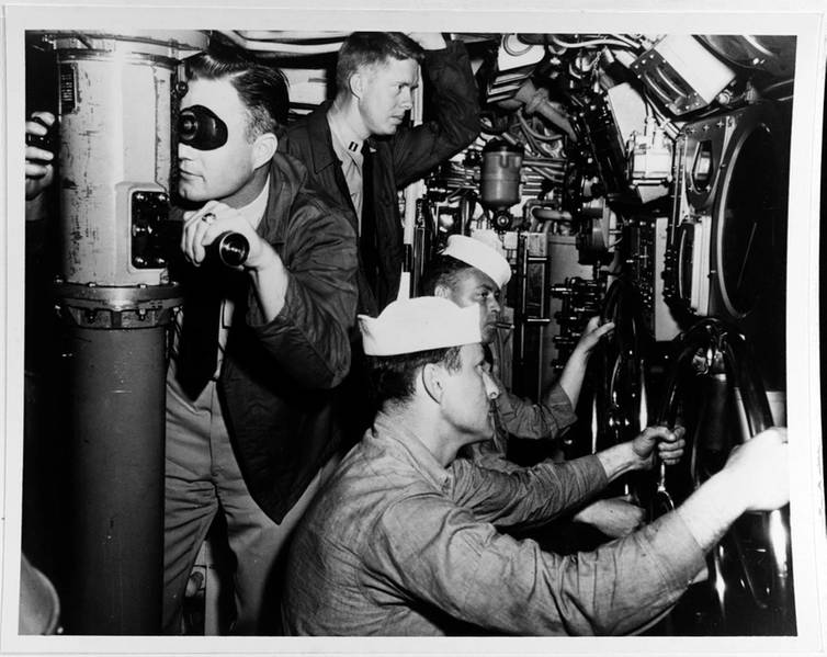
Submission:
M 497 532 L 439 495 L 388 508 L 369 563 L 406 596 L 507 634 L 626 634 L 669 609 L 703 567 L 671 513 L 594 552 L 559 556 Z

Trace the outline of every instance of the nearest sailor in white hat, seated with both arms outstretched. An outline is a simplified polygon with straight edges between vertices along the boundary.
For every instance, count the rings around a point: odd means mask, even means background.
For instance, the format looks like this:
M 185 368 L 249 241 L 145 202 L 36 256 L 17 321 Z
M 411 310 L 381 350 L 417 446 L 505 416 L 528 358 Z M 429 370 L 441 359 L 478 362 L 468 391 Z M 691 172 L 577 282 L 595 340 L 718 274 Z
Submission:
M 596 455 L 509 474 L 454 458 L 491 431 L 497 390 L 476 310 L 420 297 L 360 320 L 381 410 L 295 533 L 287 634 L 628 633 L 676 602 L 735 517 L 788 499 L 785 467 L 771 472 L 785 434 L 773 429 L 678 511 L 596 552 L 559 556 L 516 541 L 499 528 L 565 512 L 652 467 L 656 450 L 675 463 L 683 440 L 647 429 Z

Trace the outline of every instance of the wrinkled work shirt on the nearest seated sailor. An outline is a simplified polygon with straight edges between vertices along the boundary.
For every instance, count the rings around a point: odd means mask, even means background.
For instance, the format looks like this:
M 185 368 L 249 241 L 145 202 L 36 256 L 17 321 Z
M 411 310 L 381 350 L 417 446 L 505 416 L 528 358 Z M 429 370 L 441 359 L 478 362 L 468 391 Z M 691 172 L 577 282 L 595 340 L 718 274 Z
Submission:
M 284 630 L 422 636 L 639 628 L 704 565 L 678 514 L 565 557 L 497 530 L 551 519 L 605 484 L 596 456 L 513 473 L 465 458 L 445 468 L 381 412 L 295 534 Z

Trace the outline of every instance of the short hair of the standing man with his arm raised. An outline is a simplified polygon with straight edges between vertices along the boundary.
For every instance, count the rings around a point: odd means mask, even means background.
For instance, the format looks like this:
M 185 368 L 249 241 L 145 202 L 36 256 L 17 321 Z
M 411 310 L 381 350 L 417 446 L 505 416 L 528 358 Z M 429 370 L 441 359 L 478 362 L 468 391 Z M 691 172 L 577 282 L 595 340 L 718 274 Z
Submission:
M 337 91 L 347 91 L 360 66 L 385 64 L 388 59 L 421 61 L 424 50 L 401 32 L 353 32 L 344 39 L 336 63 Z

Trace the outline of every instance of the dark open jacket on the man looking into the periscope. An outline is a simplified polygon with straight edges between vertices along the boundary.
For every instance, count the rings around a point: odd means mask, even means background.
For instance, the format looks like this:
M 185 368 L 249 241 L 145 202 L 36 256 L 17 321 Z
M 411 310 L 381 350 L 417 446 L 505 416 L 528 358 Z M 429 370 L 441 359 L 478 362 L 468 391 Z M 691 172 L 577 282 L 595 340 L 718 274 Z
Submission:
M 356 304 L 353 230 L 306 179 L 301 162 L 273 157 L 258 233 L 290 272 L 285 304 L 264 321 L 249 275 L 241 276 L 246 290 L 218 381 L 247 487 L 276 522 L 339 446 L 331 388 L 350 367 L 348 335 Z M 197 274 L 190 273 L 197 284 Z

